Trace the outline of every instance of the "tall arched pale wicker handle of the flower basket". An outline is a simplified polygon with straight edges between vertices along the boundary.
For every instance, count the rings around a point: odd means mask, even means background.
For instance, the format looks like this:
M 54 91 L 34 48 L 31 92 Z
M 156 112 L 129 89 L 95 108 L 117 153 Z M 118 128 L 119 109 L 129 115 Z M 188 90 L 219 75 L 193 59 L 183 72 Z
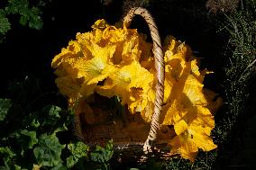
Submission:
M 151 146 L 153 145 L 152 142 L 156 139 L 157 132 L 160 129 L 160 113 L 162 110 L 164 96 L 164 58 L 158 27 L 156 26 L 156 23 L 154 22 L 151 13 L 149 13 L 148 10 L 142 7 L 132 8 L 129 13 L 127 13 L 127 15 L 123 18 L 123 28 L 127 28 L 130 26 L 133 20 L 133 16 L 136 14 L 141 15 L 149 25 L 151 31 L 151 38 L 153 40 L 153 53 L 157 76 L 156 101 L 154 104 L 154 113 L 151 120 L 151 130 L 149 132 L 148 138 L 143 145 L 143 151 L 148 152 L 149 150 L 151 150 Z

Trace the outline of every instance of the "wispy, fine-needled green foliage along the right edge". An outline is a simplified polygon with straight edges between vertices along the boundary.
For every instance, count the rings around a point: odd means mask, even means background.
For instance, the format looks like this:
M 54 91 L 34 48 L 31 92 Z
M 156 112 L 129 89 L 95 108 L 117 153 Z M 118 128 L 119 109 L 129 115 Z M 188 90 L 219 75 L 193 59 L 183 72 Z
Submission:
M 255 73 L 256 51 L 256 7 L 253 0 L 243 2 L 243 9 L 226 16 L 223 31 L 229 35 L 224 67 L 226 117 L 218 123 L 216 136 L 224 141 L 230 139 L 234 124 L 245 111 L 249 96 L 248 85 Z M 229 134 L 229 135 L 228 135 Z

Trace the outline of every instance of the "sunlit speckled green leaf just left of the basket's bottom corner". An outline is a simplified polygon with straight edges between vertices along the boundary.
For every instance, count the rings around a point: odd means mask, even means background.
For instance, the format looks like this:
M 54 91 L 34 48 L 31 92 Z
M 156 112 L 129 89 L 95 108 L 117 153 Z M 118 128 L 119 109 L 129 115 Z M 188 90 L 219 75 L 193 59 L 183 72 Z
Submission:
M 70 143 L 68 148 L 72 154 L 72 156 L 67 158 L 68 168 L 75 166 L 82 157 L 87 157 L 87 151 L 89 147 L 83 142 L 78 141 L 74 144 Z

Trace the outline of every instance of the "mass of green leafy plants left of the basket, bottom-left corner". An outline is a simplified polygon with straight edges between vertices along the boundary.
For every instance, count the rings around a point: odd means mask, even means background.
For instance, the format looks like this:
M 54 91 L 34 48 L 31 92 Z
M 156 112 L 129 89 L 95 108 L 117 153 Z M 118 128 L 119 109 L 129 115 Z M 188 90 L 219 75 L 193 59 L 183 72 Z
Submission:
M 39 81 L 27 77 L 10 85 L 15 100 L 0 99 L 0 169 L 85 169 L 90 157 L 96 162 L 90 169 L 108 166 L 112 141 L 105 148 L 90 149 L 71 135 L 73 112 L 41 103 L 47 93 L 37 94 Z M 32 109 L 36 103 L 44 106 Z

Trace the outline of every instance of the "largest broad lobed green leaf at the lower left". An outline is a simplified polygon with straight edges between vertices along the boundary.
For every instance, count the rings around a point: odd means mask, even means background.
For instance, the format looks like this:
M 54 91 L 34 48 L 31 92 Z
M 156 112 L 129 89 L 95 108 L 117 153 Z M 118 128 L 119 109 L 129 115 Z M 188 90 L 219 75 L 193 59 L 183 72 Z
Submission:
M 41 166 L 58 166 L 62 163 L 60 158 L 61 150 L 65 145 L 59 144 L 55 134 L 42 134 L 39 139 L 39 146 L 33 149 L 34 156 Z

